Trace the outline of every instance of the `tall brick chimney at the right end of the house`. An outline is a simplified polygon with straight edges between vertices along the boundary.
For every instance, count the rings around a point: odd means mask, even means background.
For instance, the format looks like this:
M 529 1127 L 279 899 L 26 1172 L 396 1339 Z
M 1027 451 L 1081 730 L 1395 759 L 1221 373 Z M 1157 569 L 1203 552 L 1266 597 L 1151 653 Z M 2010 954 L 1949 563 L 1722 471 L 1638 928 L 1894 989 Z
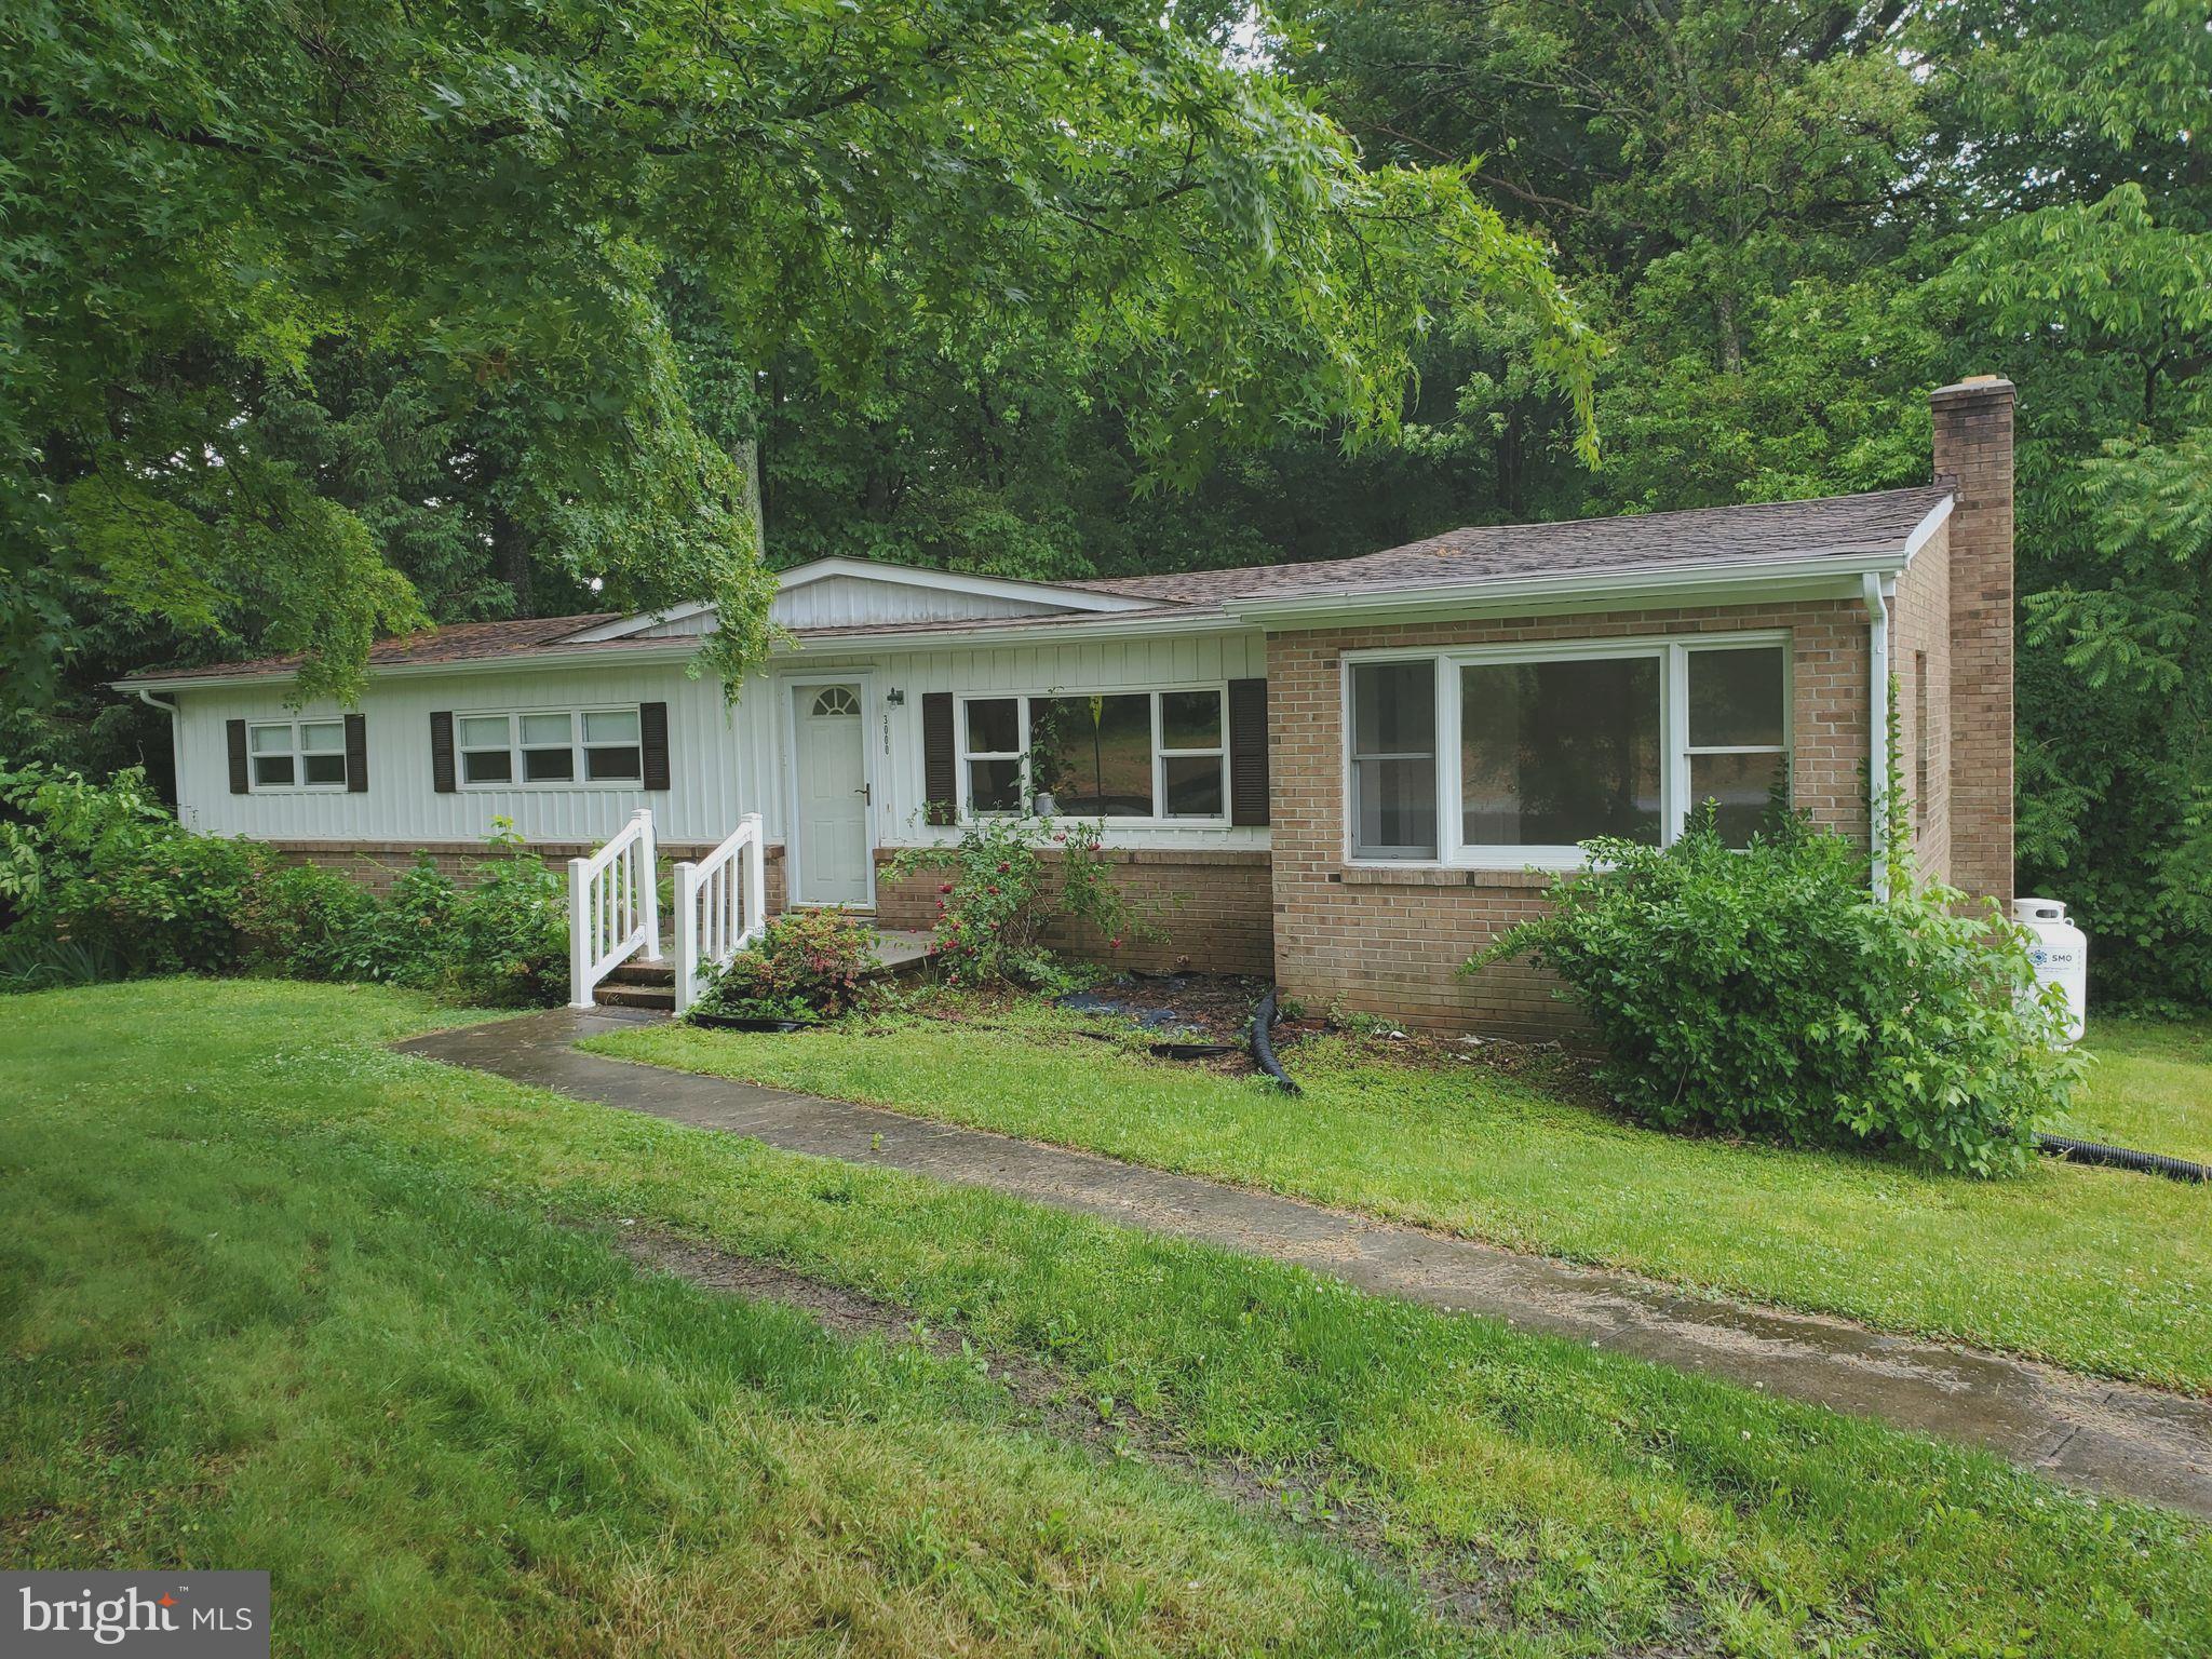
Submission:
M 1951 880 L 2013 900 L 2013 383 L 1929 396 L 1951 509 Z

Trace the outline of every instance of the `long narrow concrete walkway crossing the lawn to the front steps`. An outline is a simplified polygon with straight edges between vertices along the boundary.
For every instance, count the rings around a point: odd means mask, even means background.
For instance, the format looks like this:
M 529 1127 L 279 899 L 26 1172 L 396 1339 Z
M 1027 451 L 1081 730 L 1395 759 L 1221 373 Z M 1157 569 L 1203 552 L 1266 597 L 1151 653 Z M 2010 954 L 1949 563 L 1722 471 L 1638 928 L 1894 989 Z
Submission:
M 405 1042 L 400 1051 L 577 1099 L 750 1135 L 792 1152 L 883 1164 L 1272 1256 L 1383 1296 L 1489 1314 L 1522 1329 L 1579 1338 L 1989 1447 L 2090 1491 L 2212 1515 L 2208 1400 L 1882 1336 L 1838 1318 L 1705 1301 L 1630 1274 L 1573 1267 L 1093 1152 L 927 1124 L 783 1088 L 637 1066 L 573 1046 L 580 1037 L 637 1022 L 639 1015 L 606 1009 L 557 1009 L 440 1031 Z

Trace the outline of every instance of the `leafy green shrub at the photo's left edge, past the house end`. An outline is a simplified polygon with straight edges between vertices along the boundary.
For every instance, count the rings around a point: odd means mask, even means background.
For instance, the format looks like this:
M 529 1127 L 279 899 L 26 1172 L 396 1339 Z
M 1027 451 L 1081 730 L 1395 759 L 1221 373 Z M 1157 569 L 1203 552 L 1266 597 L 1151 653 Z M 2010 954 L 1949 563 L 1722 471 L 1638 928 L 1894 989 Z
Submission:
M 69 942 L 122 973 L 239 967 L 246 896 L 268 869 L 250 841 L 181 827 L 137 768 L 106 783 L 46 765 L 0 770 L 0 898 L 9 933 Z

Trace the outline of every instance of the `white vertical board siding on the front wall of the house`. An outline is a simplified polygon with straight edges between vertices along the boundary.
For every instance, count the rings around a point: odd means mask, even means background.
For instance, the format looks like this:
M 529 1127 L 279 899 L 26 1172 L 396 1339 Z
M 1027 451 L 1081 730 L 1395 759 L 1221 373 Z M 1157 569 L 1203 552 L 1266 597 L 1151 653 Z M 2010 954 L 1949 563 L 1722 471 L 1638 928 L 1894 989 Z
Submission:
M 827 586 L 825 582 L 812 586 Z M 801 591 L 803 593 L 803 591 Z M 785 595 L 785 597 L 796 597 Z M 969 595 L 969 604 L 975 595 Z M 973 611 L 971 611 L 973 615 Z M 880 617 L 872 617 L 880 619 Z M 821 624 L 814 624 L 821 626 Z M 378 675 L 354 712 L 363 714 L 369 787 L 230 792 L 226 721 L 336 719 L 336 703 L 285 706 L 288 681 L 265 686 L 186 686 L 177 701 L 177 794 L 188 825 L 263 841 L 349 841 L 427 845 L 480 841 L 504 816 L 529 841 L 599 843 L 639 805 L 650 805 L 664 843 L 721 841 L 745 812 L 763 816 L 768 841 L 787 834 L 792 692 L 796 684 L 854 675 L 865 688 L 865 730 L 874 781 L 872 836 L 896 847 L 949 838 L 922 825 L 922 697 L 927 692 L 1110 692 L 1219 686 L 1263 677 L 1261 633 L 1170 633 L 1159 637 L 1013 646 L 916 646 L 779 650 L 768 670 L 723 699 L 712 677 L 666 664 L 560 668 L 482 668 L 431 675 Z M 898 692 L 898 701 L 894 701 Z M 668 703 L 668 781 L 664 792 L 624 785 L 462 783 L 438 794 L 431 779 L 431 712 L 529 712 Z M 1261 827 L 1144 825 L 1110 830 L 1130 847 L 1265 847 Z

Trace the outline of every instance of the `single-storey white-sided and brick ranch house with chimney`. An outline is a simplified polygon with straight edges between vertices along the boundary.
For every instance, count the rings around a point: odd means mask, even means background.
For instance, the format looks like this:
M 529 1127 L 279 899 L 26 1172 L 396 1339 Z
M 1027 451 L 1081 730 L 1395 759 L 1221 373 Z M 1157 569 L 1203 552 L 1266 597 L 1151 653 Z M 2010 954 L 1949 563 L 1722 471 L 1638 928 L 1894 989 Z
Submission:
M 2013 387 L 1931 403 L 1916 489 L 1095 582 L 827 557 L 781 575 L 785 637 L 734 701 L 688 672 L 699 604 L 392 639 L 354 708 L 296 706 L 288 659 L 119 686 L 173 714 L 186 825 L 367 883 L 467 867 L 493 818 L 602 865 L 644 823 L 646 869 L 695 860 L 710 960 L 787 905 L 925 929 L 938 887 L 898 849 L 1042 810 L 1104 821 L 1155 909 L 1130 967 L 1542 1035 L 1540 971 L 1455 969 L 1579 841 L 1666 841 L 1703 801 L 1750 834 L 1774 799 L 1867 838 L 1891 719 L 1918 867 L 2011 898 Z M 748 880 L 714 898 L 730 847 Z M 580 889 L 595 960 L 659 956 L 637 891 Z

